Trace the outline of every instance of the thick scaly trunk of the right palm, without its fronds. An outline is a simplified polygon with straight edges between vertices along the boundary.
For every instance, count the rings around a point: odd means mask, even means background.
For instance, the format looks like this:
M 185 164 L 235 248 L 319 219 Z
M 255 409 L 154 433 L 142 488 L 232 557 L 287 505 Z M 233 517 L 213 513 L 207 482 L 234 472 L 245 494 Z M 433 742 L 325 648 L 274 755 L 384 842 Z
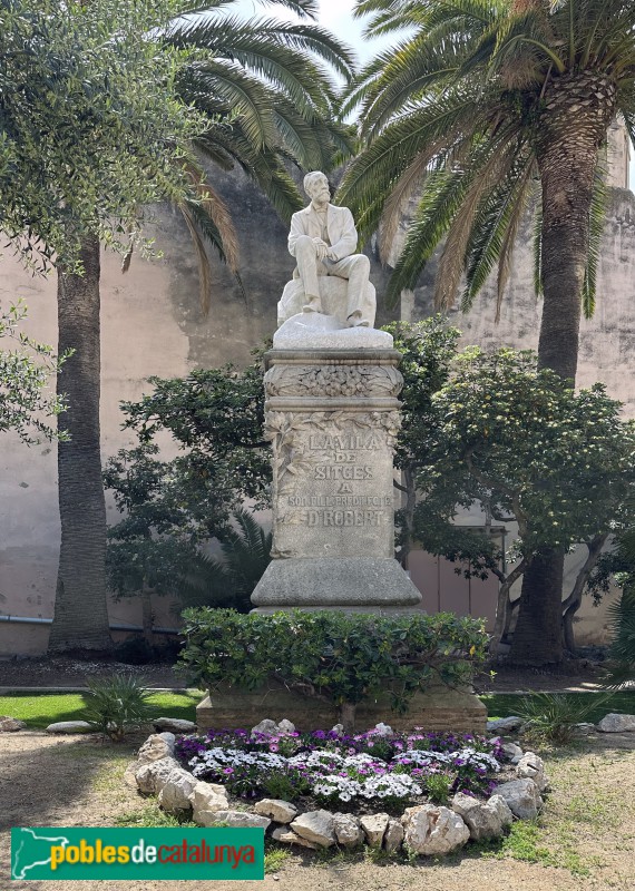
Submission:
M 538 168 L 543 185 L 543 321 L 538 363 L 575 382 L 589 215 L 599 147 L 615 114 L 615 87 L 583 72 L 556 77 L 540 112 Z M 522 578 L 510 659 L 558 663 L 564 554 L 538 555 Z

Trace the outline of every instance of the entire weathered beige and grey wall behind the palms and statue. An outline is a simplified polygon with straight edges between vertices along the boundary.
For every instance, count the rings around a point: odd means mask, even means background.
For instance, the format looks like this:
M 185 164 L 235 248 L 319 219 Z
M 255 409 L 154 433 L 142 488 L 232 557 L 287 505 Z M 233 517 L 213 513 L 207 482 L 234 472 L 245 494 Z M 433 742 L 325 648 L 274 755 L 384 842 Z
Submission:
M 155 233 L 163 260 L 135 258 L 123 276 L 118 258 L 104 257 L 102 271 L 102 454 L 107 458 L 131 444 L 119 428 L 120 400 L 134 400 L 148 390 L 153 374 L 175 376 L 198 366 L 233 360 L 245 363 L 250 350 L 275 326 L 275 304 L 291 276 L 285 227 L 242 175 L 227 175 L 217 184 L 236 212 L 243 262 L 241 274 L 247 301 L 232 276 L 213 261 L 213 301 L 209 316 L 198 309 L 196 263 L 185 227 L 170 210 L 157 212 Z M 491 287 L 468 316 L 453 321 L 465 331 L 466 343 L 483 346 L 536 346 L 540 305 L 531 295 L 530 249 L 527 231 L 519 239 L 514 275 L 508 286 L 502 321 L 494 324 Z M 431 311 L 431 275 L 403 301 L 403 315 L 421 319 Z M 372 256 L 371 277 L 383 292 L 387 272 Z M 55 278 L 33 280 L 9 255 L 0 257 L 0 303 L 23 296 L 33 336 L 56 342 Z M 635 414 L 635 198 L 617 190 L 609 208 L 599 277 L 598 309 L 583 324 L 580 383 L 604 380 L 609 393 Z M 378 324 L 390 313 L 380 307 Z M 55 446 L 27 448 L 3 433 L 0 440 L 0 613 L 52 616 L 59 522 L 57 515 Z M 109 516 L 114 509 L 109 507 Z M 462 521 L 471 521 L 463 518 Z M 165 604 L 157 604 L 159 624 L 173 625 Z M 597 625 L 596 616 L 592 614 Z M 111 619 L 138 624 L 138 606 L 116 604 Z M 589 625 L 589 627 L 590 627 Z M 602 625 L 602 620 L 599 623 Z M 46 627 L 0 623 L 0 655 L 42 652 Z M 600 637 L 605 633 L 600 628 Z M 586 630 L 585 630 L 586 636 Z

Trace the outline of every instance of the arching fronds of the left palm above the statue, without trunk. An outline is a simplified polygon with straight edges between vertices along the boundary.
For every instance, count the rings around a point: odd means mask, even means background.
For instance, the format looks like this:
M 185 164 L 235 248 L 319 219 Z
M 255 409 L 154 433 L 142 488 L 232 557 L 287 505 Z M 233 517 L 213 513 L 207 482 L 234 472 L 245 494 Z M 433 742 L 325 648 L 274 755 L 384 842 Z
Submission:
M 267 0 L 263 0 L 267 2 Z M 339 123 L 330 69 L 352 76 L 349 50 L 314 18 L 314 0 L 274 0 L 301 18 L 227 17 L 226 0 L 177 19 L 165 35 L 179 49 L 205 51 L 185 66 L 177 86 L 183 100 L 205 114 L 208 125 L 194 141 L 206 169 L 238 165 L 270 199 L 284 222 L 303 205 L 287 170 L 332 169 L 353 149 L 351 128 Z M 201 303 L 209 307 L 209 270 L 205 246 L 238 275 L 238 248 L 231 212 L 203 167 L 189 168 L 197 195 L 179 203 L 198 258 Z M 240 282 L 240 277 L 238 277 Z

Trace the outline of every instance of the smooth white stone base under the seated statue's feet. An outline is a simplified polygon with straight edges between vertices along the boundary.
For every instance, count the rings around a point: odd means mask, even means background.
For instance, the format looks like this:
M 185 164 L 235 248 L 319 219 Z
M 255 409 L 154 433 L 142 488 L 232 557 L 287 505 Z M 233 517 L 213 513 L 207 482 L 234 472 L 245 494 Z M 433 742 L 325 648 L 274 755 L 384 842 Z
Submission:
M 335 276 L 329 276 L 335 278 Z M 343 280 L 342 280 L 343 281 Z M 344 282 L 345 284 L 345 282 Z M 374 327 L 342 327 L 334 315 L 297 313 L 273 335 L 274 350 L 392 350 L 392 335 Z

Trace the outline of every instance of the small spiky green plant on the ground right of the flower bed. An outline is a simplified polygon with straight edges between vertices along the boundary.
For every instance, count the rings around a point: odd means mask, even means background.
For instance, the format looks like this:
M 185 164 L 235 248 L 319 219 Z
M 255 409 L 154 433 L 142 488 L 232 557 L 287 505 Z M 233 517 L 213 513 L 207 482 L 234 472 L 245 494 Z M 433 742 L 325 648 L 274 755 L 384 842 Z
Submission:
M 521 701 L 518 716 L 525 721 L 525 735 L 538 743 L 566 745 L 576 734 L 576 725 L 585 722 L 600 705 L 597 696 L 585 702 L 566 693 L 535 693 Z

